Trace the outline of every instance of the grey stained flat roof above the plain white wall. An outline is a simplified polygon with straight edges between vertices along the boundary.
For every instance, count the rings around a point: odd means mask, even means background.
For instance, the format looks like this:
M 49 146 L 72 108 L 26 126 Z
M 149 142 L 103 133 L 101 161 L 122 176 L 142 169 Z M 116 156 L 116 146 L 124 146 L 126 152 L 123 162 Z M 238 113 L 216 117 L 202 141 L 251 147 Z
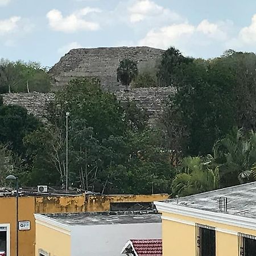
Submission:
M 151 211 L 125 211 L 102 213 L 57 213 L 42 214 L 65 225 L 109 225 L 109 224 L 139 224 L 161 223 L 161 214 Z

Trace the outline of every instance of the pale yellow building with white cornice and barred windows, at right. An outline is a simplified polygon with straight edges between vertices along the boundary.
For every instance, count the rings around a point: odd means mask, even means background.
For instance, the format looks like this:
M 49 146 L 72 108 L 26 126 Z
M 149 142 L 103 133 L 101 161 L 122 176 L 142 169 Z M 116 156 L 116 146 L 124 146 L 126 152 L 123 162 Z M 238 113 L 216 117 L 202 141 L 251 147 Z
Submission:
M 164 256 L 255 256 L 256 183 L 155 202 Z

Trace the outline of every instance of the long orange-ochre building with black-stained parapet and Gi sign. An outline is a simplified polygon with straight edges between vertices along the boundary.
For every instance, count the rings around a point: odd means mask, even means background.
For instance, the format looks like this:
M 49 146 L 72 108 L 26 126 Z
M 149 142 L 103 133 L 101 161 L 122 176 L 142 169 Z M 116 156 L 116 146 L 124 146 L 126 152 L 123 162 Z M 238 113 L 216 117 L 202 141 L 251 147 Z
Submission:
M 16 255 L 16 198 L 0 196 L 0 250 L 6 256 Z M 143 204 L 167 199 L 168 195 L 54 195 L 19 197 L 19 221 L 29 223 L 25 230 L 19 230 L 19 256 L 35 255 L 34 213 L 79 213 L 104 212 L 119 204 Z M 3 249 L 1 249 L 3 248 Z

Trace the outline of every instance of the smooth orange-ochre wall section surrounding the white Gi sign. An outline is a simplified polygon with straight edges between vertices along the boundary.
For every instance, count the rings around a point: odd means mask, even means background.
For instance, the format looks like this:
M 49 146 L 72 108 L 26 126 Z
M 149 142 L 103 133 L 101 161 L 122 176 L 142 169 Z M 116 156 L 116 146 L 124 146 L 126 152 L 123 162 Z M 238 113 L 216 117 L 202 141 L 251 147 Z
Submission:
M 19 198 L 19 221 L 30 221 L 31 230 L 19 231 L 19 256 L 34 255 L 35 250 L 35 199 Z M 10 224 L 10 252 L 16 255 L 16 197 L 0 198 L 0 223 Z

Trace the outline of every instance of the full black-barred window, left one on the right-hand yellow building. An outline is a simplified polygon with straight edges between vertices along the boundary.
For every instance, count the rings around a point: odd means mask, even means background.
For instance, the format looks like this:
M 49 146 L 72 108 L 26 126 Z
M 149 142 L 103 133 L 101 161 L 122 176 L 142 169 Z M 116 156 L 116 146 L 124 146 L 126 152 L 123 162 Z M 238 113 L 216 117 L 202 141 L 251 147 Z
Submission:
M 196 224 L 196 256 L 216 256 L 215 228 Z

